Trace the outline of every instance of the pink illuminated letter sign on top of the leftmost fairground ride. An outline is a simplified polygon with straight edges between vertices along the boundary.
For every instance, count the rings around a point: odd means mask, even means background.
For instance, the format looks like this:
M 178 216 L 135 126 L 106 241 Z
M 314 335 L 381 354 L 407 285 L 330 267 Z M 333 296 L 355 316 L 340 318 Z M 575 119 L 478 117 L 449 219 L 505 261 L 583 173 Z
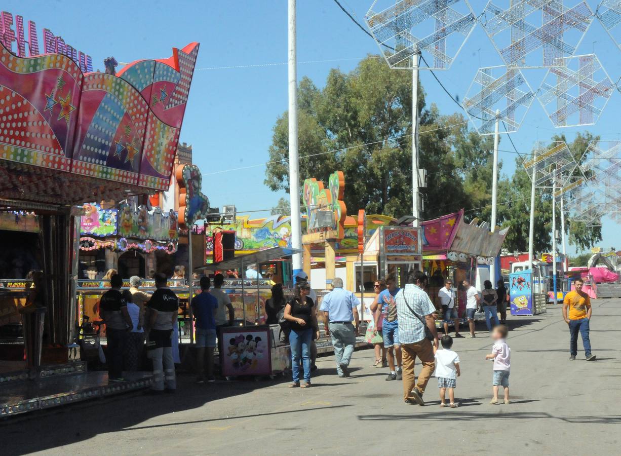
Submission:
M 37 37 L 37 25 L 28 21 L 28 39 L 25 38 L 24 18 L 15 16 L 15 27 L 13 27 L 13 15 L 10 12 L 0 13 L 0 41 L 4 47 L 12 52 L 13 43 L 17 43 L 15 54 L 17 57 L 37 57 L 42 54 L 62 54 L 69 57 L 79 65 L 84 73 L 93 71 L 93 59 L 90 55 L 78 51 L 71 45 L 65 43 L 60 36 L 55 36 L 50 30 L 43 29 L 43 53 L 39 52 L 39 37 Z M 28 55 L 26 55 L 26 45 L 28 45 Z

